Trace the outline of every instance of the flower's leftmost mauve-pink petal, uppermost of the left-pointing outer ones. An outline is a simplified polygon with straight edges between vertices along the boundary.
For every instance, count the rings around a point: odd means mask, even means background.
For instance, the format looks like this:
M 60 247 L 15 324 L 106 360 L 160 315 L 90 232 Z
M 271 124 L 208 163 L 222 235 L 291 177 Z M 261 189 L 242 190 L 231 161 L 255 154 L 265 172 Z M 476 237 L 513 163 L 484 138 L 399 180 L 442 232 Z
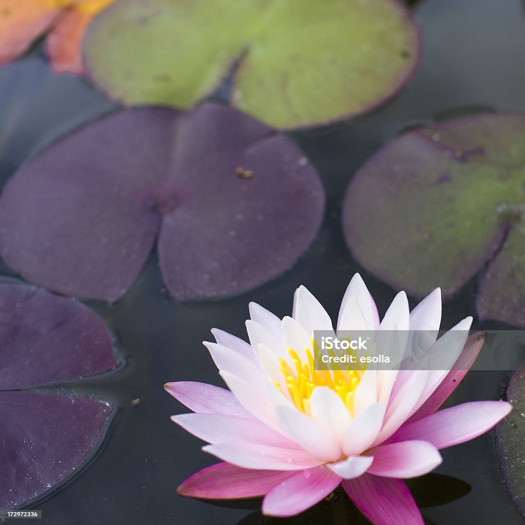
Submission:
M 232 392 L 219 386 L 194 381 L 177 381 L 166 383 L 164 388 L 166 392 L 193 412 L 252 417 L 240 405 Z

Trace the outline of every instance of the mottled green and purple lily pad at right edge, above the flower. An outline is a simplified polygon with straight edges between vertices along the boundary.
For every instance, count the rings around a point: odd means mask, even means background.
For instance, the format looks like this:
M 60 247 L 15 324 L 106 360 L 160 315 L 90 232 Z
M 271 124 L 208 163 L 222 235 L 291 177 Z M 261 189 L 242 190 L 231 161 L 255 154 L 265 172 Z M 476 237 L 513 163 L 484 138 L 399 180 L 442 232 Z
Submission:
M 395 288 L 450 296 L 481 270 L 481 319 L 525 326 L 525 116 L 478 114 L 402 134 L 356 173 L 343 229 Z

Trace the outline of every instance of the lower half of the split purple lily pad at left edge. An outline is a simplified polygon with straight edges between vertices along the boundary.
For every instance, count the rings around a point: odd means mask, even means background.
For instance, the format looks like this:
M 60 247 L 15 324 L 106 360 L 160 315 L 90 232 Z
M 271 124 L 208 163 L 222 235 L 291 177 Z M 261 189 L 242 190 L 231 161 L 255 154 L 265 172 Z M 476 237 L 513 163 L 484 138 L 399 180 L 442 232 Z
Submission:
M 111 407 L 84 397 L 0 392 L 0 509 L 64 481 L 92 453 Z

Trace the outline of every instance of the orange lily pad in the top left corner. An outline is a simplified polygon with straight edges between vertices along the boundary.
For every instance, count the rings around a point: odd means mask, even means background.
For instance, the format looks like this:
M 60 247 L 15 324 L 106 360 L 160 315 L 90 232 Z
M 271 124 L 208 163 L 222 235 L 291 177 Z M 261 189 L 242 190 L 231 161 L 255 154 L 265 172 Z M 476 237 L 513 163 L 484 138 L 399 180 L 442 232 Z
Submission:
M 81 75 L 82 38 L 91 19 L 115 0 L 0 0 L 0 64 L 47 34 L 51 67 Z

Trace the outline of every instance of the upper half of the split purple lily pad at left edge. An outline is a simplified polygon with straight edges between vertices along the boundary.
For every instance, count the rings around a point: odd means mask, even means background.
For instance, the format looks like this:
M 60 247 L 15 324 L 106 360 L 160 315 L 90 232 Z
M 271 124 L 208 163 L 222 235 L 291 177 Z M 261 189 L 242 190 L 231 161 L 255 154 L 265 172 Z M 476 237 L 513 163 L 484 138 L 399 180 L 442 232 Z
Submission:
M 71 381 L 118 361 L 102 321 L 33 286 L 0 285 L 0 390 Z

